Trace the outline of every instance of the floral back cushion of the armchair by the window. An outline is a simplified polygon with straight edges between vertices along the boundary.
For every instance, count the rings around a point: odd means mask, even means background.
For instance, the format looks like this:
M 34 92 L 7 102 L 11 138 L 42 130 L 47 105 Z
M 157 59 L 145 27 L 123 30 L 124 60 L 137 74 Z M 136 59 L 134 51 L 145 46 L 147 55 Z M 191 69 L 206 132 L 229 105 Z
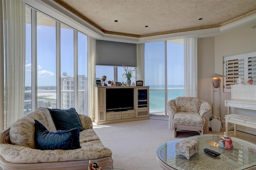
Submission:
M 175 104 L 177 112 L 199 112 L 201 101 L 197 97 L 177 97 Z

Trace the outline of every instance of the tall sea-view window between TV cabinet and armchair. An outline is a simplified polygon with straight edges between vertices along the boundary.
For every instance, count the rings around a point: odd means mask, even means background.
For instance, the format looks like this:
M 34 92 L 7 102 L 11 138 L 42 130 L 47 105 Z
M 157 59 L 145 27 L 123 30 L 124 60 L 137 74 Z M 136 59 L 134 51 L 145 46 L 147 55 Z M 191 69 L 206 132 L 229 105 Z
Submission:
M 150 86 L 150 114 L 164 114 L 166 99 L 184 96 L 183 51 L 183 40 L 145 43 L 145 85 Z

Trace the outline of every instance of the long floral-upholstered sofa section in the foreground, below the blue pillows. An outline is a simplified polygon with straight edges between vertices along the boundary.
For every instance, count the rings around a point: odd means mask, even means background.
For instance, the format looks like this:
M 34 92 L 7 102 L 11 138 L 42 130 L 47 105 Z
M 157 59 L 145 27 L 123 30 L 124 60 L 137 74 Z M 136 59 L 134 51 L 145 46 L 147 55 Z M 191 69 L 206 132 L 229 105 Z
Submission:
M 112 156 L 106 147 L 84 147 L 74 150 L 38 150 L 14 144 L 0 144 L 0 155 L 11 163 L 62 162 L 92 160 Z

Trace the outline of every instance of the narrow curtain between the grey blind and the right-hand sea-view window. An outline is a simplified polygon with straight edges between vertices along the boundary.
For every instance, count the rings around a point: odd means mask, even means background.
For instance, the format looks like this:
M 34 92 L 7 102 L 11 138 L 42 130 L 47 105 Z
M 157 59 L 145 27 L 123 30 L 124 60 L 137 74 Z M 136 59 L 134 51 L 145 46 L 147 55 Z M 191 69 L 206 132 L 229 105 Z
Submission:
M 137 44 L 137 67 L 136 67 L 136 80 L 142 80 L 145 82 L 144 77 L 144 68 L 145 68 L 145 62 L 144 62 L 144 48 L 145 44 Z

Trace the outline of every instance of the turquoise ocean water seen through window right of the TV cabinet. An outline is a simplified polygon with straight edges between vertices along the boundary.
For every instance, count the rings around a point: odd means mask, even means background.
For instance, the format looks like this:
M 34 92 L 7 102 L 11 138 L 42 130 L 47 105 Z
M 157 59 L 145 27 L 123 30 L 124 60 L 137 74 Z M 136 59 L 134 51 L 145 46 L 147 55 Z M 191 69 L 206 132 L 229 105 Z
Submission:
M 168 101 L 175 99 L 179 96 L 184 96 L 184 86 L 183 85 L 170 85 L 168 89 Z M 165 111 L 165 93 L 164 86 L 154 86 L 149 87 L 149 109 L 150 113 L 158 113 Z

